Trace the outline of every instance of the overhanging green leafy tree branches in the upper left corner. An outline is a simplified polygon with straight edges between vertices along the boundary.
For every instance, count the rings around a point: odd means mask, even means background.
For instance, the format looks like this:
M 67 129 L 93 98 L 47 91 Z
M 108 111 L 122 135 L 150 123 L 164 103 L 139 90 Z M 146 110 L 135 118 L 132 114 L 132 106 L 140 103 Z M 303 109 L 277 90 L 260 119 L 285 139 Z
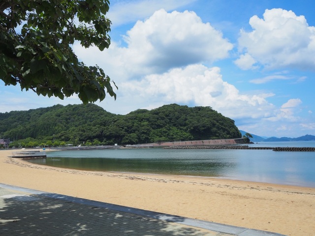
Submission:
M 78 41 L 108 48 L 108 10 L 108 0 L 0 1 L 0 79 L 38 95 L 78 94 L 83 103 L 101 101 L 106 92 L 116 99 L 104 71 L 79 61 L 70 47 Z

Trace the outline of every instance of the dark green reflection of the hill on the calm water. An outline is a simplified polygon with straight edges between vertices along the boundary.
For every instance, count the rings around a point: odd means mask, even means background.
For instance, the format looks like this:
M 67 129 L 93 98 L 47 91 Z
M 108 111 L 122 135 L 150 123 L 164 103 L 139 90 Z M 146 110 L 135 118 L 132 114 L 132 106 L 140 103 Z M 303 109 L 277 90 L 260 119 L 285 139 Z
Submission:
M 64 156 L 65 154 L 66 156 Z M 29 161 L 36 164 L 88 171 L 212 177 L 231 172 L 231 169 L 236 166 L 236 163 L 229 158 L 218 157 L 218 151 L 209 150 L 83 150 L 58 151 L 52 155 L 58 155 L 58 157 Z M 68 155 L 73 155 L 73 157 L 68 157 Z

